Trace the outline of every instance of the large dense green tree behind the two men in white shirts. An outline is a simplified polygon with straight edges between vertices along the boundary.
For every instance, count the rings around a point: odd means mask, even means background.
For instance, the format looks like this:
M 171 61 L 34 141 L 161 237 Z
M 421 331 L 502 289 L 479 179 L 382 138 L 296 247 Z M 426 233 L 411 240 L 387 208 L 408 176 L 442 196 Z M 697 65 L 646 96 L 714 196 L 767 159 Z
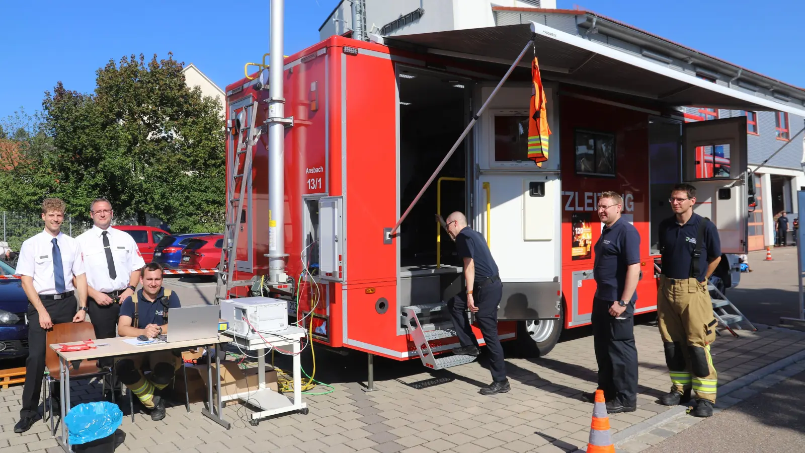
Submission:
M 109 198 L 115 215 L 162 218 L 173 231 L 222 231 L 225 128 L 221 105 L 188 88 L 183 63 L 142 54 L 109 60 L 93 94 L 47 93 L 43 109 L 60 152 L 54 171 L 72 212 Z

